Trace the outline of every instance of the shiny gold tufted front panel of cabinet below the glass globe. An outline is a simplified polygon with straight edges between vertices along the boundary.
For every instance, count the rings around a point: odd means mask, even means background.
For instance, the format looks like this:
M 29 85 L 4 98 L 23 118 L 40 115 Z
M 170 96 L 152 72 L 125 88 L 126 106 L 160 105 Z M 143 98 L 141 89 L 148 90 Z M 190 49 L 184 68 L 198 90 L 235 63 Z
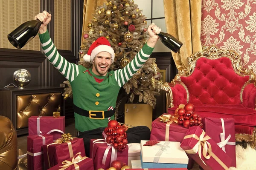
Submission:
M 17 96 L 17 129 L 28 127 L 30 116 L 51 116 L 61 109 L 61 93 Z

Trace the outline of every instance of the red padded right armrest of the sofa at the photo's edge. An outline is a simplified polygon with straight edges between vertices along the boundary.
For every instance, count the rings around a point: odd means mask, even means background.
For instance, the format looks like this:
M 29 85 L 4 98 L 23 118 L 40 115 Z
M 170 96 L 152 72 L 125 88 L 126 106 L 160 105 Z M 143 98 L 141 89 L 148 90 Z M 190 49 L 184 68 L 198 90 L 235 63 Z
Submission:
M 256 109 L 256 87 L 253 83 L 248 84 L 242 91 L 243 106 Z

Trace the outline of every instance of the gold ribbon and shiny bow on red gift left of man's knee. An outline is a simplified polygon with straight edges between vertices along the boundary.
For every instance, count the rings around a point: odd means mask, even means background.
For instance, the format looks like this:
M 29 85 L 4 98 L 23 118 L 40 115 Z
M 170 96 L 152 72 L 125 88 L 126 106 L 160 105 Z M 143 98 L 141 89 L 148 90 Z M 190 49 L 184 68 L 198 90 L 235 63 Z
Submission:
M 58 138 L 55 142 L 47 145 L 46 150 L 47 150 L 47 158 L 48 158 L 49 167 L 51 167 L 50 160 L 49 160 L 49 153 L 48 153 L 49 145 L 67 143 L 68 151 L 70 153 L 70 158 L 72 158 L 74 156 L 74 154 L 73 154 L 72 144 L 71 144 L 70 140 L 73 141 L 73 137 L 70 135 L 70 133 L 64 133 L 63 135 L 61 135 L 61 138 Z

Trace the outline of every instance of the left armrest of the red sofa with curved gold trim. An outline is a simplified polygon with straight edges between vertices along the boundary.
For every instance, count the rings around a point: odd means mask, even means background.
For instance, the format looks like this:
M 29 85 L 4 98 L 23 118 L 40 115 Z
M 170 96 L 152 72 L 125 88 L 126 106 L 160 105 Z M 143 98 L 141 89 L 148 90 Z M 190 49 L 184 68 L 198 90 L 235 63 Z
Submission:
M 165 83 L 162 87 L 166 92 L 166 112 L 170 107 L 176 107 L 187 103 L 187 92 L 183 85 L 177 83 Z

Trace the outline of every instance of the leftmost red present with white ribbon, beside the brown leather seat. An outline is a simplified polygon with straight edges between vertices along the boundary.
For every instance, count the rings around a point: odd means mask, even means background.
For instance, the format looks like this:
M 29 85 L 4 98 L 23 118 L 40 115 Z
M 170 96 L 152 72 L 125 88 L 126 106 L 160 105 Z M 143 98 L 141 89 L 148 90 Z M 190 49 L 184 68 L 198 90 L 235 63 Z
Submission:
M 27 137 L 28 170 L 44 170 L 42 146 L 53 142 L 52 135 L 32 135 Z

